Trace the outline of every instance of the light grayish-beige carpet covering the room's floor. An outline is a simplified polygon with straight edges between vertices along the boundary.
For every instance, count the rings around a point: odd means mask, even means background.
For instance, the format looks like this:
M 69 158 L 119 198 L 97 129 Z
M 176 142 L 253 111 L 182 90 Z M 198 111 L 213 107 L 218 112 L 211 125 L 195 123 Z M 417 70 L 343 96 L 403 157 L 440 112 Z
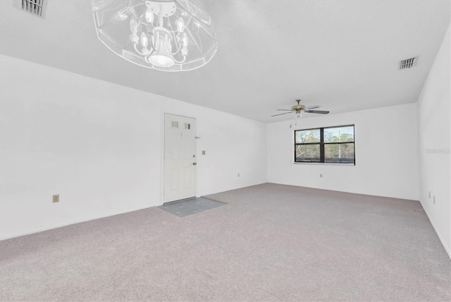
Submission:
M 417 201 L 266 183 L 0 241 L 1 301 L 451 301 Z

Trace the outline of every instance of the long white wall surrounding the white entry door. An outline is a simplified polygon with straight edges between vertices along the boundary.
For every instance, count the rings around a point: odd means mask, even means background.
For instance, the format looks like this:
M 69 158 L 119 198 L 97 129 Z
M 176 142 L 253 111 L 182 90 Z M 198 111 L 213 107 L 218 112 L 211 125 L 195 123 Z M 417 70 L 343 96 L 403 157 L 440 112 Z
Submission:
M 266 182 L 264 123 L 4 55 L 0 64 L 0 238 L 161 205 L 165 112 L 197 119 L 197 195 Z

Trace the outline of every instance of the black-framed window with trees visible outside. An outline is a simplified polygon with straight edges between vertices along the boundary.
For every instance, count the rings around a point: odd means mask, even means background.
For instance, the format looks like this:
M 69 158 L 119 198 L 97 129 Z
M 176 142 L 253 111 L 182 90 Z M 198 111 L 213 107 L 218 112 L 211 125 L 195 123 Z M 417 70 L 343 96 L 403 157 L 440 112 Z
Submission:
M 295 162 L 355 164 L 354 125 L 295 131 Z

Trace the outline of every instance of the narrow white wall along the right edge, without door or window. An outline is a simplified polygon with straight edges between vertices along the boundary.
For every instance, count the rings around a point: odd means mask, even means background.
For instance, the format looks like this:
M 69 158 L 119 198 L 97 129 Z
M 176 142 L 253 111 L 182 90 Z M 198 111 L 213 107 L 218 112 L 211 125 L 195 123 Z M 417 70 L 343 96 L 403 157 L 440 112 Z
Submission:
M 451 258 L 450 28 L 418 99 L 420 202 Z M 429 198 L 431 192 L 431 198 Z M 435 204 L 433 198 L 435 196 Z

